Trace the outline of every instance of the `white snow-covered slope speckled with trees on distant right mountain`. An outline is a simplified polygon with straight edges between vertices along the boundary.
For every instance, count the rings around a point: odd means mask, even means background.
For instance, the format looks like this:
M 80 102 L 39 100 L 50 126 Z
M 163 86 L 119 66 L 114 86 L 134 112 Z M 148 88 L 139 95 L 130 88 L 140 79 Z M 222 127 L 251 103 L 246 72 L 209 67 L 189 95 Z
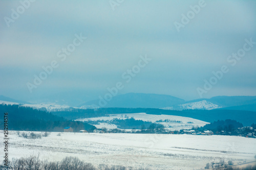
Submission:
M 203 100 L 199 102 L 185 103 L 185 104 L 180 104 L 173 107 L 165 107 L 161 109 L 164 109 L 164 110 L 186 110 L 186 109 L 211 110 L 211 109 L 217 109 L 217 108 L 221 108 L 221 107 L 214 103 L 210 103 L 206 100 Z

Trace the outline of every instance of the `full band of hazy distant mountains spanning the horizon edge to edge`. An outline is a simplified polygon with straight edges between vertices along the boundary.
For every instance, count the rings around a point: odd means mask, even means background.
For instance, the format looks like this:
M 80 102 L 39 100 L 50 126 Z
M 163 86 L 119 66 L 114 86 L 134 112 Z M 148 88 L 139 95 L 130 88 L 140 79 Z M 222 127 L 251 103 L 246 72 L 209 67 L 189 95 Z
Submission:
M 14 102 L 17 104 L 29 104 L 28 102 L 11 99 L 4 95 L 0 95 L 0 101 Z M 100 100 L 84 102 L 82 104 L 77 104 L 74 108 L 97 108 L 100 107 L 99 102 Z M 210 99 L 185 101 L 183 99 L 176 98 L 175 96 L 165 94 L 126 93 L 114 96 L 109 102 L 105 103 L 106 105 L 103 106 L 105 108 L 162 108 L 165 110 L 212 110 L 223 108 L 225 110 L 256 111 L 256 96 L 215 96 Z M 58 102 L 54 104 L 40 103 L 39 105 L 40 106 L 38 106 L 37 103 L 31 107 L 49 107 L 58 109 L 70 108 L 70 105 L 62 105 L 58 104 Z

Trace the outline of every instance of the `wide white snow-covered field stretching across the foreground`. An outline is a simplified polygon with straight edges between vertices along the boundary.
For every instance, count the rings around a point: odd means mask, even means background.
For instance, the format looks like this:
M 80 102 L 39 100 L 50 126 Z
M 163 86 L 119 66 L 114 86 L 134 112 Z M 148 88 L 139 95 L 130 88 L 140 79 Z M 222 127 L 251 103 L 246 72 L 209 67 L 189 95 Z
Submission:
M 52 132 L 41 139 L 26 139 L 10 131 L 9 156 L 20 158 L 39 154 L 40 159 L 51 161 L 77 156 L 95 166 L 103 163 L 151 169 L 201 169 L 206 163 L 221 159 L 234 163 L 251 161 L 256 154 L 256 139 L 238 136 L 57 134 Z M 4 136 L 3 131 L 0 135 Z M 3 141 L 3 155 L 2 149 Z M 0 161 L 2 159 L 1 156 Z

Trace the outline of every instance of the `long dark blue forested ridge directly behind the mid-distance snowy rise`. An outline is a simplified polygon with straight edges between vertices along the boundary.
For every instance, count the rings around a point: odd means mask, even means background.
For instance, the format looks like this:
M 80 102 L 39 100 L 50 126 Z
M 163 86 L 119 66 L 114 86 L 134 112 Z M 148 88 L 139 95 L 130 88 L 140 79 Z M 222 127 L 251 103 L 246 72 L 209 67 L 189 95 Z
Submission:
M 88 117 L 101 117 L 106 114 L 117 113 L 146 113 L 146 114 L 166 114 L 191 117 L 205 122 L 212 123 L 217 120 L 232 119 L 241 122 L 244 126 L 256 123 L 256 112 L 245 110 L 163 110 L 152 108 L 98 108 L 98 109 L 73 109 L 71 111 L 52 112 L 54 115 L 63 116 L 67 119 L 78 119 Z

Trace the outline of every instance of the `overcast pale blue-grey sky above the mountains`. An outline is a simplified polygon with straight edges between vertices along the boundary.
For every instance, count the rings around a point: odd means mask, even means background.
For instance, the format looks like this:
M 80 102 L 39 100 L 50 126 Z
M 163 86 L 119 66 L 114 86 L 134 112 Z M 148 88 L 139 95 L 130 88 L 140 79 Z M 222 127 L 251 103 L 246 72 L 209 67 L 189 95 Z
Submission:
M 255 16 L 256 1 L 0 0 L 0 95 L 88 101 L 118 82 L 118 94 L 256 95 Z

